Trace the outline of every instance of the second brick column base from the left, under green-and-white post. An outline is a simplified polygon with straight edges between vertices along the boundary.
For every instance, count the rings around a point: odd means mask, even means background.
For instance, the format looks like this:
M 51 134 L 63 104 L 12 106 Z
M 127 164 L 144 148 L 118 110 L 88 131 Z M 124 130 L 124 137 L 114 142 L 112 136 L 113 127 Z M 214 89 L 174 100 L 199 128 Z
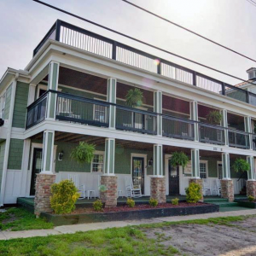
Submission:
M 106 191 L 100 191 L 100 199 L 105 203 L 105 207 L 117 206 L 117 176 L 102 176 L 101 184 L 106 187 Z

